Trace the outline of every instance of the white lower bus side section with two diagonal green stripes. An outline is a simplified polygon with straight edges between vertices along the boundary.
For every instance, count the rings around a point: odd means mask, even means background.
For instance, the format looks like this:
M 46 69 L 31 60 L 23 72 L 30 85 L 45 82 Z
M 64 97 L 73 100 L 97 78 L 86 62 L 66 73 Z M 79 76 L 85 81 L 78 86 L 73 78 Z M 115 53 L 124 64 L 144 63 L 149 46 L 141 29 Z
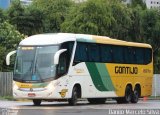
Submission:
M 69 74 L 70 86 L 81 85 L 82 98 L 117 97 L 103 63 L 82 62 L 73 66 Z

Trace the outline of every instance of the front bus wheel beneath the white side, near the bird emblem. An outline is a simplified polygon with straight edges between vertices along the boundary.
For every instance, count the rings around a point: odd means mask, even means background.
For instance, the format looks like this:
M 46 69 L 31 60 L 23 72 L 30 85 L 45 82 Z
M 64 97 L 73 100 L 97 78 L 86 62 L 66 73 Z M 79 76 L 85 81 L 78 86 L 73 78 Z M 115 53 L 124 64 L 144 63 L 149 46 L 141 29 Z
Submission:
M 73 87 L 72 91 L 72 97 L 71 99 L 68 100 L 69 105 L 77 105 L 77 100 L 78 100 L 78 92 L 77 92 L 77 87 Z

